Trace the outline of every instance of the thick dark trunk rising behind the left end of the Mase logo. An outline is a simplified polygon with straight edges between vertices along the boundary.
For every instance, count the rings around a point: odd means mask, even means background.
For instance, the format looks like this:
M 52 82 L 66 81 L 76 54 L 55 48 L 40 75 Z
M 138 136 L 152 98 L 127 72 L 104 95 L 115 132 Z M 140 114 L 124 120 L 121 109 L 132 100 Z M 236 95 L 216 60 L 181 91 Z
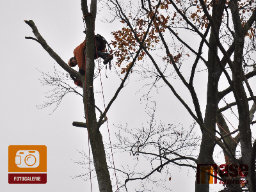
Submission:
M 212 1 L 213 2 L 213 1 Z M 212 164 L 214 163 L 212 155 L 214 151 L 215 142 L 212 140 L 215 136 L 216 129 L 216 115 L 218 109 L 218 82 L 220 80 L 221 69 L 218 63 L 218 45 L 216 44 L 219 36 L 220 26 L 223 11 L 225 8 L 225 1 L 216 1 L 212 4 L 212 26 L 211 35 L 209 38 L 209 45 L 211 49 L 208 52 L 208 82 L 207 82 L 207 105 L 205 109 L 204 126 L 211 132 L 202 132 L 202 142 L 200 145 L 200 153 L 198 156 L 198 164 Z M 211 134 L 211 136 L 210 136 Z M 196 173 L 197 175 L 200 173 Z M 195 185 L 195 191 L 209 191 L 209 180 L 205 184 Z

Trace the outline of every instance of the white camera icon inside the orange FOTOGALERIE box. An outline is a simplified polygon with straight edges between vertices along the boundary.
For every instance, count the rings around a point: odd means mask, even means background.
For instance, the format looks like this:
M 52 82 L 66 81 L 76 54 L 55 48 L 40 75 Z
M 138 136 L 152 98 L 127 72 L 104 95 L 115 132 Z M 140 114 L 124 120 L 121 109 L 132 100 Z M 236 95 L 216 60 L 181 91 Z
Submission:
M 19 168 L 36 168 L 39 166 L 39 152 L 37 150 L 18 150 L 15 163 Z

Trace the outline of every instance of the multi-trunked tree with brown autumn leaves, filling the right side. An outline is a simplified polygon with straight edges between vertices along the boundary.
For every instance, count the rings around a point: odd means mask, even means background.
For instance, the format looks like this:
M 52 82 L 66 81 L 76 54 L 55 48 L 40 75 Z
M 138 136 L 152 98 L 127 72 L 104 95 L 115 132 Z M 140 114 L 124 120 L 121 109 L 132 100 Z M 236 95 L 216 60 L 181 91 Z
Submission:
M 155 68 L 154 74 L 157 74 L 156 76 L 172 90 L 201 129 L 202 141 L 196 163 L 215 164 L 213 153 L 218 145 L 223 150 L 226 164 L 249 166 L 246 175 L 249 183 L 246 187 L 252 191 L 255 180 L 251 179 L 251 175 L 255 172 L 255 161 L 251 163 L 250 112 L 251 116 L 255 113 L 255 110 L 253 112 L 255 105 L 250 111 L 249 100 L 256 103 L 256 98 L 247 79 L 256 75 L 256 71 L 253 70 L 255 60 L 251 58 L 255 54 L 255 26 L 253 26 L 256 18 L 255 1 L 141 0 L 139 6 L 127 3 L 130 7 L 122 6 L 124 1 L 111 0 L 111 2 L 115 5 L 116 15 L 124 23 L 122 30 L 113 33 L 116 38 L 113 45 L 118 56 L 117 65 L 125 72 L 131 67 L 130 60 L 140 47 L 142 51 L 138 61 L 146 56 L 150 59 Z M 150 23 L 148 19 L 153 19 L 153 22 Z M 141 36 L 148 29 L 149 35 L 143 43 Z M 191 45 L 191 41 L 189 42 L 184 36 L 187 33 L 193 35 L 198 43 L 194 42 Z M 195 44 L 198 46 L 197 51 Z M 154 54 L 156 48 L 165 51 L 165 54 L 158 52 L 163 57 L 163 61 L 157 59 L 159 56 Z M 206 50 L 207 55 L 202 54 Z M 185 59 L 188 57 L 189 61 L 186 63 Z M 184 63 L 186 68 L 183 67 Z M 196 67 L 202 63 L 207 68 L 207 79 L 201 82 L 207 82 L 205 112 L 202 111 L 194 83 Z M 191 93 L 193 106 L 189 106 L 189 103 L 182 99 L 179 90 L 175 90 L 172 79 L 168 79 L 166 71 L 170 65 Z M 145 70 L 145 66 L 143 67 Z M 182 67 L 185 72 L 190 70 L 188 77 L 184 76 Z M 148 72 L 153 73 L 151 67 L 148 67 Z M 225 77 L 225 80 L 223 81 L 221 77 Z M 221 91 L 219 87 L 223 82 L 227 83 L 227 88 Z M 225 99 L 228 93 L 231 93 L 235 102 L 221 108 L 220 101 Z M 231 109 L 232 106 L 237 107 L 238 113 L 236 132 L 239 134 L 236 137 L 232 137 L 235 132 L 228 129 L 221 115 L 221 112 Z M 236 158 L 238 143 L 241 144 L 241 157 Z M 233 184 L 227 185 L 227 188 L 237 191 L 241 186 Z M 195 189 L 209 191 L 209 180 L 205 184 L 196 182 Z

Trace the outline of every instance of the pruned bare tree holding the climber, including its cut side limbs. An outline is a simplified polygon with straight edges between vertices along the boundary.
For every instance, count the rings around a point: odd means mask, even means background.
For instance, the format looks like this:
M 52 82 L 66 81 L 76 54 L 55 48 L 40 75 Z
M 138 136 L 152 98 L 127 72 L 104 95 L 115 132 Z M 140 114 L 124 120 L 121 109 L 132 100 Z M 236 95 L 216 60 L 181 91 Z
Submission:
M 93 93 L 93 75 L 94 75 L 94 54 L 95 54 L 95 38 L 94 38 L 94 26 L 97 13 L 97 0 L 90 1 L 90 12 L 88 11 L 88 2 L 86 0 L 81 0 L 81 8 L 84 15 L 84 20 L 86 23 L 86 75 L 81 76 L 79 72 L 70 68 L 67 63 L 61 60 L 60 56 L 54 52 L 51 47 L 47 44 L 44 38 L 40 35 L 38 29 L 35 26 L 33 20 L 24 20 L 31 29 L 36 38 L 26 37 L 27 39 L 32 39 L 38 42 L 47 51 L 50 56 L 56 60 L 56 62 L 67 71 L 72 76 L 76 77 L 83 83 L 83 101 L 84 101 L 84 115 L 86 117 L 86 124 L 78 123 L 82 127 L 88 129 L 88 136 L 90 140 L 90 145 L 93 154 L 93 164 L 95 166 L 95 171 L 97 173 L 97 180 L 99 184 L 100 192 L 110 192 L 112 190 L 111 179 L 109 176 L 108 165 L 106 161 L 106 154 L 104 150 L 104 145 L 102 141 L 102 135 L 100 134 L 100 125 L 104 122 L 104 116 L 106 116 L 106 111 L 108 111 L 111 104 L 104 113 L 101 113 L 99 120 L 97 120 L 95 112 L 95 100 Z M 122 88 L 122 86 L 121 86 Z M 121 89 L 120 88 L 120 89 Z M 120 90 L 119 90 L 120 91 Z M 118 95 L 118 92 L 116 92 Z M 113 99 L 115 100 L 115 99 Z M 89 191 L 89 189 L 86 189 Z

